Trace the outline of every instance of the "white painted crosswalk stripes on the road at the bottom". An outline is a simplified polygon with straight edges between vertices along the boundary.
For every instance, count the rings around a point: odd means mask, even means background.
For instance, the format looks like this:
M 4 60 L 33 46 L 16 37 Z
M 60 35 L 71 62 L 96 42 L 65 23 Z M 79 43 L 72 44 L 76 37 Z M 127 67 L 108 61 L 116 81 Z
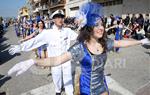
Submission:
M 120 83 L 115 81 L 110 76 L 106 77 L 106 81 L 108 83 L 109 89 L 118 93 L 117 95 L 134 95 L 132 92 L 130 92 L 128 89 L 121 86 Z M 33 89 L 31 91 L 25 92 L 21 95 L 55 95 L 54 84 L 50 83 L 50 84 L 41 86 L 39 88 Z

